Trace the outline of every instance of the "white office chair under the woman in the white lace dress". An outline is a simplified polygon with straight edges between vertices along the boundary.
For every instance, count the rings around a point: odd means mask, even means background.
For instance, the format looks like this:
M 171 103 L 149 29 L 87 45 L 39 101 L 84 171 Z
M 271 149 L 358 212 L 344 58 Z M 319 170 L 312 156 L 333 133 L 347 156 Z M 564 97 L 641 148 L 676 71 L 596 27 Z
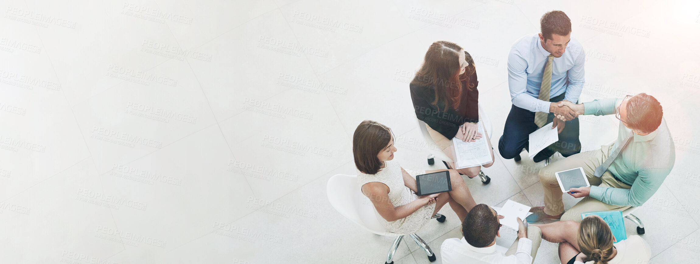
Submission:
M 413 241 L 418 244 L 423 251 L 428 254 L 428 260 L 430 262 L 435 261 L 435 254 L 433 250 L 428 247 L 428 244 L 424 242 L 421 237 L 416 234 L 398 234 L 388 232 L 384 226 L 381 226 L 379 220 L 374 214 L 374 205 L 369 198 L 364 196 L 360 191 L 360 186 L 357 184 L 356 175 L 344 175 L 337 174 L 333 175 L 328 179 L 328 184 L 326 185 L 326 193 L 328 193 L 328 201 L 335 210 L 342 214 L 353 223 L 362 226 L 365 230 L 375 233 L 377 235 L 395 236 L 391 248 L 386 255 L 386 264 L 393 264 L 393 256 L 398 249 L 398 245 L 401 243 L 404 235 L 409 235 Z M 441 214 L 435 214 L 433 218 L 437 218 L 437 221 L 444 222 L 445 217 Z

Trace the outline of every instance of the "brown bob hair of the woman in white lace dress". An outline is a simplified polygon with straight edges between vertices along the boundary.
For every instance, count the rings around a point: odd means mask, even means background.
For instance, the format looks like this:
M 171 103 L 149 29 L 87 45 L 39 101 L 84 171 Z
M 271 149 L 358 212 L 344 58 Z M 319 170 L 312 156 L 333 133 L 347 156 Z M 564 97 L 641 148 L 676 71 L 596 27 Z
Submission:
M 361 173 L 377 174 L 382 165 L 377 155 L 386 148 L 392 137 L 391 129 L 371 120 L 357 126 L 352 136 L 352 154 L 355 156 L 355 166 Z

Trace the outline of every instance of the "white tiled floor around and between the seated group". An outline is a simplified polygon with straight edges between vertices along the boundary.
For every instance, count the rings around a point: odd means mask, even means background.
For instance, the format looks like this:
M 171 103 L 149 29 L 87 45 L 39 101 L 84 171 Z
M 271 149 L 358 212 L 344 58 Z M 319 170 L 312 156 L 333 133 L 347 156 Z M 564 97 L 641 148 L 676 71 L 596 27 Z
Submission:
M 477 60 L 497 145 L 510 110 L 509 47 L 553 9 L 568 14 L 587 51 L 581 101 L 644 91 L 664 106 L 675 168 L 636 214 L 652 263 L 700 259 L 698 1 L 7 0 L 2 8 L 0 263 L 383 263 L 392 237 L 356 226 L 326 196 L 332 175 L 355 172 L 357 124 L 391 127 L 405 168 L 442 168 L 426 163 L 433 150 L 407 83 L 428 45 L 449 40 Z M 617 120 L 586 117 L 580 132 L 584 150 L 596 149 L 615 138 Z M 542 205 L 542 166 L 496 152 L 484 169 L 491 184 L 466 181 L 478 203 Z M 445 223 L 419 232 L 436 263 L 442 241 L 461 236 L 454 212 L 441 212 Z M 515 234 L 502 234 L 507 247 Z M 404 241 L 395 263 L 428 262 Z M 557 262 L 556 244 L 542 242 L 535 263 Z

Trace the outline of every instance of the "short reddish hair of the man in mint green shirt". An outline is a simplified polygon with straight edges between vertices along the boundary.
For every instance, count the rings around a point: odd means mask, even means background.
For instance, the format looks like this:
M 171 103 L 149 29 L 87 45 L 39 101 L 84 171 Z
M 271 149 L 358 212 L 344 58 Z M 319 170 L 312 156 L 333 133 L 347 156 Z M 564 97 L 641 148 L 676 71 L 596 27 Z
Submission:
M 654 96 L 637 94 L 627 100 L 627 124 L 630 129 L 642 133 L 651 133 L 661 125 L 664 108 Z

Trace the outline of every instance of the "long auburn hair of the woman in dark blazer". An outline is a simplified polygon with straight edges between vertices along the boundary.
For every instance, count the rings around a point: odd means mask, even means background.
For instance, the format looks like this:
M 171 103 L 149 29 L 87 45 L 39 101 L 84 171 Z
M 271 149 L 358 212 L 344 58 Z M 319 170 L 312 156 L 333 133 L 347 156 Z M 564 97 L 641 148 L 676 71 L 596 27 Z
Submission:
M 470 91 L 474 87 L 471 76 L 476 72 L 474 59 L 470 55 L 465 56 L 465 61 L 469 62 L 466 71 L 460 75 L 459 67 L 462 61 L 459 60 L 459 52 L 463 48 L 456 43 L 449 41 L 435 41 L 426 52 L 423 65 L 416 72 L 416 76 L 411 81 L 413 85 L 427 86 L 435 92 L 435 100 L 430 103 L 437 106 L 438 102 L 444 103 L 446 108 L 457 109 L 462 96 L 462 81 L 465 81 L 467 89 Z M 447 110 L 447 109 L 445 109 Z

